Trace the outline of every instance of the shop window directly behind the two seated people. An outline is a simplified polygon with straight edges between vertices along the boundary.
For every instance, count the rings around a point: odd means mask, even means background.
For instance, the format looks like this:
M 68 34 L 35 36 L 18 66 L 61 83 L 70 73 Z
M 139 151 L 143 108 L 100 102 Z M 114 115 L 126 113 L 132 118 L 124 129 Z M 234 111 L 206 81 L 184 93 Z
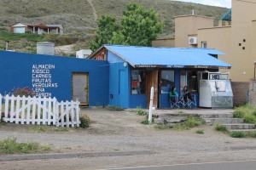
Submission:
M 181 71 L 180 72 L 180 92 L 183 92 L 183 87 L 187 86 L 189 91 L 197 91 L 197 74 L 196 71 Z

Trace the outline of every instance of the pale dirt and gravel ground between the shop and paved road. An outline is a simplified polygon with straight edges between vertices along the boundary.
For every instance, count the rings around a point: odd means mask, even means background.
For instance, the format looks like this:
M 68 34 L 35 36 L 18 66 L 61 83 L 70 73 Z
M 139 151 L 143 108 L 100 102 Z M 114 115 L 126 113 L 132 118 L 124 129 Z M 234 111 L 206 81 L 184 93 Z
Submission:
M 106 169 L 256 160 L 256 139 L 233 139 L 211 126 L 185 131 L 159 130 L 154 125 L 141 124 L 144 116 L 137 116 L 134 110 L 107 111 L 96 107 L 82 112 L 93 122 L 88 129 L 56 132 L 49 127 L 41 132 L 31 126 L 0 123 L 0 139 L 10 137 L 19 142 L 49 144 L 60 154 L 21 159 L 18 157 L 22 156 L 0 156 L 0 169 Z M 205 133 L 195 133 L 198 128 Z

